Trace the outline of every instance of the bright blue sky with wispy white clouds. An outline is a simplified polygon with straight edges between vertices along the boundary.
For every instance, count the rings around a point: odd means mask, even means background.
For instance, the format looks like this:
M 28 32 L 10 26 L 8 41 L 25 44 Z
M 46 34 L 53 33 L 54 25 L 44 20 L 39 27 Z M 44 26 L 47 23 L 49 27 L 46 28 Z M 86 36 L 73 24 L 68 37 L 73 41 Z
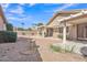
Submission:
M 31 28 L 34 23 L 48 23 L 62 10 L 87 9 L 87 3 L 2 3 L 9 23 L 17 28 Z M 22 26 L 21 23 L 24 23 Z

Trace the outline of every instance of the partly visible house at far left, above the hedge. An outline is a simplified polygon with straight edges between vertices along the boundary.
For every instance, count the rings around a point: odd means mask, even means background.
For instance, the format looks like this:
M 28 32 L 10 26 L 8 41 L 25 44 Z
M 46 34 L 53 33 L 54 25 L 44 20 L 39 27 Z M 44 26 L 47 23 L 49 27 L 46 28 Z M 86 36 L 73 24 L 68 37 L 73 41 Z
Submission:
M 6 31 L 6 22 L 7 22 L 7 20 L 4 18 L 2 8 L 0 6 L 0 31 Z

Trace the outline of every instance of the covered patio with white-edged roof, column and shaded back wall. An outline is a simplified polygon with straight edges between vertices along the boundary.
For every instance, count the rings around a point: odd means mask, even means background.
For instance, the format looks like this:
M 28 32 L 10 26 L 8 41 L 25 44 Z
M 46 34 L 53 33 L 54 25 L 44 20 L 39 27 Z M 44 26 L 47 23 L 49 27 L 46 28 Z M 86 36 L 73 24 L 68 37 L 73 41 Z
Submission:
M 63 43 L 66 43 L 66 26 L 69 26 L 69 36 L 75 40 L 87 40 L 87 11 L 80 11 L 79 13 L 58 20 L 63 25 Z

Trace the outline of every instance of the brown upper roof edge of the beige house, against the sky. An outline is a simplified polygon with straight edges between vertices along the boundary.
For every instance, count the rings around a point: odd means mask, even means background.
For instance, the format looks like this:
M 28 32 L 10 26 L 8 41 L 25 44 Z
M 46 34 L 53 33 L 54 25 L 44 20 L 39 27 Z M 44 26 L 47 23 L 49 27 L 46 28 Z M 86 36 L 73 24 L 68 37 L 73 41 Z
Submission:
M 53 20 L 55 19 L 55 18 L 57 18 L 58 15 L 62 15 L 62 14 L 75 14 L 75 13 L 78 13 L 78 12 L 80 12 L 81 10 L 86 10 L 87 11 L 87 9 L 78 9 L 78 10 L 66 10 L 66 11 L 58 11 L 58 12 L 56 12 L 54 15 L 53 15 L 53 18 L 50 20 L 50 22 L 47 23 L 47 25 L 51 23 L 51 22 L 53 22 Z

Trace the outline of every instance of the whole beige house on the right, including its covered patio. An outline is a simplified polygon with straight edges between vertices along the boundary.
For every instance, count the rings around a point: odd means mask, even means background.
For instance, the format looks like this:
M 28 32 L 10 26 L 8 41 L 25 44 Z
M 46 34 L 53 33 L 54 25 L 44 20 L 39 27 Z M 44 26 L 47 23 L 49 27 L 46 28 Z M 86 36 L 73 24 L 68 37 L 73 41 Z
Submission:
M 59 11 L 44 26 L 39 26 L 42 36 L 63 40 L 87 40 L 87 10 Z

